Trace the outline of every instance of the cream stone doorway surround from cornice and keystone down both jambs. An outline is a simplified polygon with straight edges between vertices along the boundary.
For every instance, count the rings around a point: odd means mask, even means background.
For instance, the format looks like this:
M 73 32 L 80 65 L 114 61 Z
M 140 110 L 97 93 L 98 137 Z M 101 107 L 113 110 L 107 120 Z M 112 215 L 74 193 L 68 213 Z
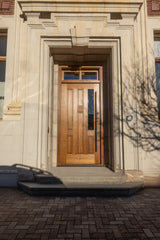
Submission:
M 18 3 L 28 31 L 28 56 L 36 51 L 32 49 L 32 44 L 36 44 L 37 39 L 40 43 L 37 44 L 38 52 L 35 55 L 38 56 L 37 69 L 39 69 L 37 74 L 39 82 L 37 167 L 50 169 L 55 167 L 57 162 L 58 65 L 54 62 L 51 49 L 78 46 L 111 50 L 109 57 L 113 86 L 114 170 L 124 169 L 123 135 L 120 134 L 123 132 L 123 126 L 114 117 L 121 118 L 122 114 L 121 41 L 124 38 L 130 40 L 133 37 L 134 21 L 143 0 L 98 2 L 88 0 L 87 3 L 84 3 L 83 0 L 54 2 L 23 0 Z M 44 18 L 44 15 L 47 17 Z M 101 32 L 99 26 L 103 26 L 104 31 Z M 117 35 L 114 34 L 115 30 L 119 31 Z M 125 35 L 122 31 L 129 33 Z M 119 37 L 120 35 L 121 37 Z M 27 61 L 29 62 L 29 57 Z M 28 63 L 28 69 L 34 61 L 31 60 Z M 27 74 L 28 80 L 33 77 L 32 71 Z M 53 112 L 51 110 L 52 100 Z M 27 142 L 29 142 L 29 137 L 26 127 L 24 131 L 24 163 L 28 158 L 27 151 L 25 151 Z M 52 152 L 52 158 L 50 158 L 50 152 Z

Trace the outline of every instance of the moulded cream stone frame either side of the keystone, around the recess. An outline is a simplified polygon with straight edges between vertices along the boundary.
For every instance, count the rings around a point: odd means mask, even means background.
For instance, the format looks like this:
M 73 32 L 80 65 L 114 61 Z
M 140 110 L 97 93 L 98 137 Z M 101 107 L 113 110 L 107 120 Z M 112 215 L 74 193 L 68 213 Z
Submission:
M 36 166 L 48 171 L 51 171 L 53 167 L 57 167 L 58 65 L 60 63 L 68 64 L 68 61 L 66 63 L 64 58 L 57 61 L 55 53 L 52 53 L 51 50 L 56 48 L 57 50 L 60 49 L 61 52 L 61 48 L 65 47 L 70 54 L 72 50 L 71 40 L 68 37 L 62 41 L 62 36 L 57 36 L 56 38 L 44 37 L 41 39 Z M 122 117 L 121 41 L 119 37 L 108 38 L 104 36 L 103 38 L 97 38 L 92 36 L 92 38 L 89 38 L 88 48 L 91 53 L 96 49 L 95 55 L 98 53 L 98 49 L 103 50 L 103 53 L 107 56 L 107 59 L 104 61 L 104 68 L 110 69 L 107 79 L 112 83 L 112 170 L 123 171 L 125 169 L 125 159 Z M 68 53 L 65 52 L 65 55 Z M 122 119 L 122 121 L 119 119 Z M 23 160 L 25 161 L 27 158 L 28 156 L 24 153 Z

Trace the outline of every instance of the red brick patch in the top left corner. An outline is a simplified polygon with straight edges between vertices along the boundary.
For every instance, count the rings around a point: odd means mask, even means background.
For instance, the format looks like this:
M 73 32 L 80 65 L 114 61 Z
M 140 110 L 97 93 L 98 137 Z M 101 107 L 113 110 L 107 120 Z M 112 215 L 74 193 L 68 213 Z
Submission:
M 13 15 L 14 2 L 14 0 L 0 0 L 0 15 Z

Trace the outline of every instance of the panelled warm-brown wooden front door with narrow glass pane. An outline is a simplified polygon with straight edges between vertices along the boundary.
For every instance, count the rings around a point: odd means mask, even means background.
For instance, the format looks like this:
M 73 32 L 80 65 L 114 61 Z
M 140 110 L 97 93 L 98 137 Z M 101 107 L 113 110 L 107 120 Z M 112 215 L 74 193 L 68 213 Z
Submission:
M 76 78 L 76 73 L 79 79 L 64 79 L 62 74 L 58 164 L 99 164 L 100 82 L 98 79 L 82 80 L 82 76 L 87 74 L 87 78 L 96 78 L 93 70 L 85 73 L 76 71 L 72 76 L 72 71 L 69 73 L 69 78 Z

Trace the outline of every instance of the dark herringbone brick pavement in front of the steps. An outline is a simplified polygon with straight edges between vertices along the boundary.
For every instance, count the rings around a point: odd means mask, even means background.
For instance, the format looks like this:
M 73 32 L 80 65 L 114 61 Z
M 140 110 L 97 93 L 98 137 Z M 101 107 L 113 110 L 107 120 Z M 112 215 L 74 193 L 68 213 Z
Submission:
M 31 197 L 0 189 L 0 240 L 159 240 L 160 189 L 132 197 Z

